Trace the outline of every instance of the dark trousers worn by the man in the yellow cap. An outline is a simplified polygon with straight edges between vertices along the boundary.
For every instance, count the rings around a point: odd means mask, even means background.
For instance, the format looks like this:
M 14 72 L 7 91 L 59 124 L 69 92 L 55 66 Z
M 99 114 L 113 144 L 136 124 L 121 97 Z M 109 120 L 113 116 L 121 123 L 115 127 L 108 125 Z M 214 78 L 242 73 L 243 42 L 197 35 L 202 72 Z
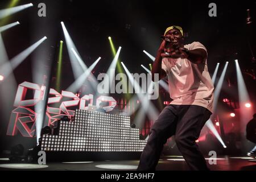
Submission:
M 155 170 L 164 143 L 172 135 L 175 135 L 177 148 L 192 170 L 208 170 L 204 156 L 195 141 L 210 115 L 210 111 L 201 106 L 166 106 L 151 127 L 137 170 Z

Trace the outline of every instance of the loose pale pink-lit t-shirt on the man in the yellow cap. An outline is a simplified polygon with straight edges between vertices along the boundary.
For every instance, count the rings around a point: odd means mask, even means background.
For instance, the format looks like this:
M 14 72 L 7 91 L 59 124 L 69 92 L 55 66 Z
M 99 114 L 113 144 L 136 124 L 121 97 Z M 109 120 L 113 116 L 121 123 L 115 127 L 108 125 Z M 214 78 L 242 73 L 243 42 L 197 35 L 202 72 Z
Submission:
M 184 46 L 188 50 L 207 49 L 200 42 Z M 213 83 L 210 78 L 207 60 L 193 64 L 188 59 L 162 59 L 162 69 L 168 77 L 171 104 L 198 105 L 213 112 Z

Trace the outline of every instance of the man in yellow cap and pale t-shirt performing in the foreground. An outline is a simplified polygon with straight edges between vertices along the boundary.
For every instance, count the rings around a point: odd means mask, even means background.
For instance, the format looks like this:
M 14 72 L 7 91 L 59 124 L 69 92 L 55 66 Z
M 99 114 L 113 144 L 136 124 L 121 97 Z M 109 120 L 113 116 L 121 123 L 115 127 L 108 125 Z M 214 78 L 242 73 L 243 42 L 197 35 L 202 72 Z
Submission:
M 172 102 L 151 127 L 138 170 L 155 170 L 163 145 L 175 141 L 192 170 L 208 170 L 196 144 L 200 131 L 212 114 L 213 84 L 207 68 L 207 49 L 199 42 L 184 45 L 183 30 L 171 26 L 164 32 L 153 67 L 160 78 L 168 77 Z M 154 80 L 153 80 L 154 81 Z

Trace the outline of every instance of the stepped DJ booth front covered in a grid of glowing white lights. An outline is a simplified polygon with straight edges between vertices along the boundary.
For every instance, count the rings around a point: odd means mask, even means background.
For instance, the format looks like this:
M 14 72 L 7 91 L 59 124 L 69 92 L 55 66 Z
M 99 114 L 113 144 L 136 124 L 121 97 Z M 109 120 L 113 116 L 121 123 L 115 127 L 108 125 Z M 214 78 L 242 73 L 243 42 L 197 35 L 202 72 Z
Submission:
M 147 140 L 130 117 L 76 109 L 75 121 L 60 121 L 59 135 L 44 134 L 44 151 L 142 152 Z

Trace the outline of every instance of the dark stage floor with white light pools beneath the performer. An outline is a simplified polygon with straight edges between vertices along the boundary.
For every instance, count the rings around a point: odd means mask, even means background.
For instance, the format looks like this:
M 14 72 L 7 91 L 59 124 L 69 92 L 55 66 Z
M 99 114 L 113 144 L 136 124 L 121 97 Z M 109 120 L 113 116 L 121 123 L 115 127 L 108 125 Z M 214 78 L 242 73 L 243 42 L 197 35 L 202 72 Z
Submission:
M 209 158 L 205 158 L 209 163 Z M 29 163 L 14 163 L 0 158 L 0 170 L 40 171 L 135 171 L 139 160 L 105 160 L 81 162 L 48 162 L 47 166 Z M 208 165 L 212 171 L 256 171 L 256 159 L 247 156 L 218 156 L 217 164 Z M 8 167 L 8 168 L 7 168 Z M 182 156 L 162 156 L 157 171 L 189 170 Z

